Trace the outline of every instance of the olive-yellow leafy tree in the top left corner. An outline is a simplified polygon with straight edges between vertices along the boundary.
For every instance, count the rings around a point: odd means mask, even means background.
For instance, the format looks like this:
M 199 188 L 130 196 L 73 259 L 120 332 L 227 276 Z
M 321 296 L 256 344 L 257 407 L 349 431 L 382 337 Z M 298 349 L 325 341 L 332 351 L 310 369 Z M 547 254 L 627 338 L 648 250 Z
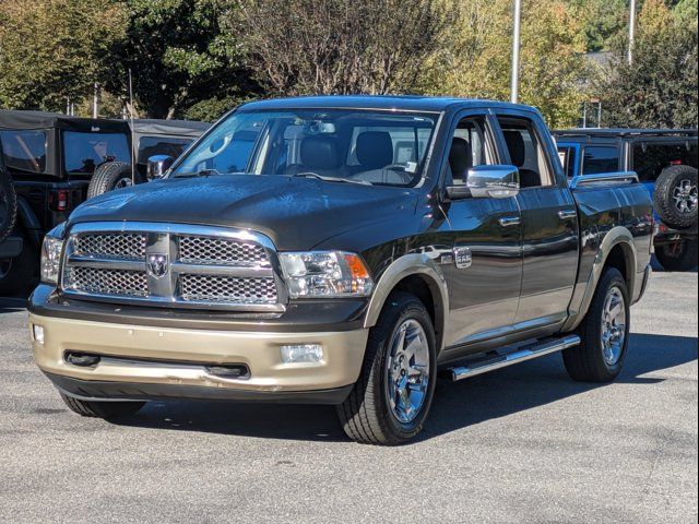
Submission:
M 92 97 L 125 24 L 116 0 L 0 1 L 0 106 L 63 110 Z

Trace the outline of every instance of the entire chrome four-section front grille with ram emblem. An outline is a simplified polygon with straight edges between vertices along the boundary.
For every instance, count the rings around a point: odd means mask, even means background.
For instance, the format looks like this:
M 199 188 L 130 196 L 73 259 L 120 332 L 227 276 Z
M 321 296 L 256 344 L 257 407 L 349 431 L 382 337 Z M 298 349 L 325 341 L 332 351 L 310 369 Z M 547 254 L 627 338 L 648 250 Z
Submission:
M 286 287 L 272 242 L 220 227 L 150 223 L 74 226 L 67 296 L 167 307 L 281 312 Z

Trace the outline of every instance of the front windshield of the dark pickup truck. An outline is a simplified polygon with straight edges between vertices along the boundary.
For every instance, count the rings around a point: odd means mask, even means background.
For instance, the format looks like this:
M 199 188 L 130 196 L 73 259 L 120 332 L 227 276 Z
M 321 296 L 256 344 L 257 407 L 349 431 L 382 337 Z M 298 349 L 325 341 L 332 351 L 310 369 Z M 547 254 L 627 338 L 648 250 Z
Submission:
M 436 119 L 356 109 L 239 111 L 216 126 L 171 176 L 251 174 L 414 186 Z

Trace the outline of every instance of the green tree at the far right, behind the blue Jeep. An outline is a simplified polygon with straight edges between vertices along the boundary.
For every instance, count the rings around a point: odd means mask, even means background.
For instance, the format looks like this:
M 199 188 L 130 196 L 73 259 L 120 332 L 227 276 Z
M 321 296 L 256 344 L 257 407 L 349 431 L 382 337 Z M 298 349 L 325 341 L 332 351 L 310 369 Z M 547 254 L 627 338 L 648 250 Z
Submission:
M 627 41 L 596 83 L 603 124 L 640 128 L 697 127 L 697 27 L 662 0 L 645 0 L 638 16 L 633 62 Z

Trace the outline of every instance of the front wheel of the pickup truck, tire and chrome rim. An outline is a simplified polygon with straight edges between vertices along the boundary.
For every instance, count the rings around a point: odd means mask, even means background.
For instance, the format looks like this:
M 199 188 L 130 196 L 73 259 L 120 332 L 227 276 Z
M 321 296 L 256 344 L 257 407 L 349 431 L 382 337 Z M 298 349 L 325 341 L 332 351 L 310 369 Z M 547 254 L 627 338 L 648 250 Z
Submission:
M 435 329 L 413 295 L 389 297 L 371 329 L 364 364 L 337 416 L 362 443 L 394 445 L 420 432 L 437 383 Z

